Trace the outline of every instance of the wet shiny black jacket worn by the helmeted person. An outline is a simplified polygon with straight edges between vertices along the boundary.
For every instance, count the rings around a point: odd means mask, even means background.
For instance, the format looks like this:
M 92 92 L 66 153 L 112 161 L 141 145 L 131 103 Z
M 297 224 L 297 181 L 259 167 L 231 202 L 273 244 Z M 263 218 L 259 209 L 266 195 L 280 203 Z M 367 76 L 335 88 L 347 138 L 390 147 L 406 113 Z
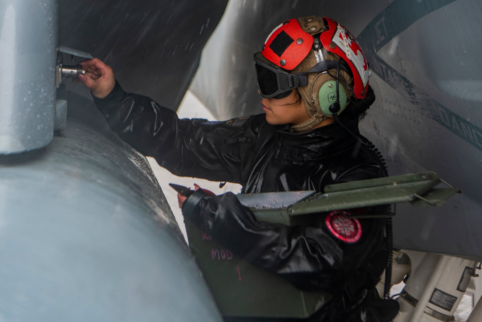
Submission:
M 94 101 L 121 139 L 162 167 L 179 176 L 239 183 L 243 193 L 323 191 L 329 184 L 387 175 L 375 152 L 336 123 L 294 134 L 288 126 L 268 124 L 264 114 L 226 122 L 178 119 L 118 83 Z M 359 134 L 356 117 L 342 121 Z M 360 220 L 362 237 L 348 244 L 330 233 L 324 218 L 294 227 L 257 222 L 227 193 L 201 200 L 190 219 L 241 257 L 301 289 L 343 296 L 349 306 L 373 289 L 383 271 L 385 220 Z

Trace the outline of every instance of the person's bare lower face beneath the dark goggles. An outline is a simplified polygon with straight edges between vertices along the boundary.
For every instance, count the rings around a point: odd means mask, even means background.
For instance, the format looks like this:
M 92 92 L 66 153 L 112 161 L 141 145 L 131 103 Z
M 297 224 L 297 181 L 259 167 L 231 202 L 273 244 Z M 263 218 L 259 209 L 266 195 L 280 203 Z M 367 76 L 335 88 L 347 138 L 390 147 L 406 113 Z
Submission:
M 283 99 L 261 99 L 263 111 L 266 113 L 266 121 L 271 125 L 300 124 L 309 119 L 305 104 L 301 100 L 296 101 L 295 90 Z M 295 103 L 295 104 L 292 104 Z

